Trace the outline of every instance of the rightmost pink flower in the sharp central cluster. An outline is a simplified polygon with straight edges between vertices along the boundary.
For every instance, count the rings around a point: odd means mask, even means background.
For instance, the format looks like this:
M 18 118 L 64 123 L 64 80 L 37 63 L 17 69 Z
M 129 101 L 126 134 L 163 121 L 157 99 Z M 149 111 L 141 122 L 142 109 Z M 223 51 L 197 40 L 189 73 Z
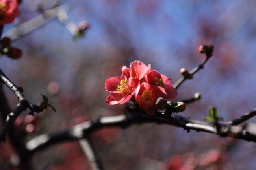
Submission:
M 154 89 L 158 97 L 174 99 L 177 96 L 177 90 L 173 88 L 172 80 L 166 75 L 159 74 L 156 70 L 146 75 L 146 81 Z

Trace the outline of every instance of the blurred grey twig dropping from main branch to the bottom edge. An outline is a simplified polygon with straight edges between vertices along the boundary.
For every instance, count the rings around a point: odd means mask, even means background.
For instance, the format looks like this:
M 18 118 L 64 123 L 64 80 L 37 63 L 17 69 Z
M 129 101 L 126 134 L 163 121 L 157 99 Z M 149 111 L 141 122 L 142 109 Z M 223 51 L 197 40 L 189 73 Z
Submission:
M 79 144 L 83 149 L 83 152 L 90 161 L 93 170 L 104 170 L 100 155 L 96 152 L 93 144 L 89 138 L 89 135 L 79 140 Z

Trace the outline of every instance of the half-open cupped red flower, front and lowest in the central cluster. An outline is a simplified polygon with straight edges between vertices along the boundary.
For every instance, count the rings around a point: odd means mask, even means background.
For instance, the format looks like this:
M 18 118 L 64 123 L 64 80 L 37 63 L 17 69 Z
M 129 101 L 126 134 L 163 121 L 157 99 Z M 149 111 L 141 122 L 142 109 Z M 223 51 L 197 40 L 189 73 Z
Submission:
M 148 109 L 152 110 L 152 109 L 157 107 L 157 106 L 154 106 L 154 105 L 156 105 L 156 94 L 155 94 L 155 91 L 146 82 L 143 82 L 136 89 L 135 99 L 136 99 L 137 104 L 139 104 L 139 107 L 144 109 L 144 110 L 148 110 Z M 156 112 L 157 112 L 157 110 L 156 110 Z

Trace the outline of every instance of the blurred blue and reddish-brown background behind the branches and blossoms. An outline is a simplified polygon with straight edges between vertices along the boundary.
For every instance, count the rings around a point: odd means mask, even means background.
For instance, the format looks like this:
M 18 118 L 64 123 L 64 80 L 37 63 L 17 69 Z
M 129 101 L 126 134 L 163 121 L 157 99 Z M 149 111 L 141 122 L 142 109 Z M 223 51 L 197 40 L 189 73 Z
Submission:
M 40 104 L 40 93 L 56 108 L 16 121 L 28 139 L 96 117 L 124 114 L 125 105 L 108 105 L 104 82 L 121 76 L 122 66 L 140 60 L 173 80 L 181 68 L 198 66 L 205 55 L 198 47 L 214 44 L 205 68 L 186 80 L 173 101 L 202 93 L 200 102 L 187 105 L 184 117 L 202 120 L 215 106 L 224 121 L 256 105 L 256 2 L 239 0 L 23 0 L 20 16 L 10 29 L 47 9 L 67 5 L 71 22 L 89 23 L 83 37 L 74 38 L 65 24 L 53 18 L 13 39 L 23 57 L 0 57 L 0 68 L 26 98 Z M 4 87 L 12 108 L 17 98 Z M 256 122 L 255 118 L 249 122 Z M 29 127 L 28 127 L 29 125 Z M 106 170 L 255 170 L 256 145 L 158 124 L 106 128 L 93 133 L 93 143 Z M 0 145 L 0 169 L 15 157 L 8 141 Z M 175 161 L 173 161 L 175 160 Z M 78 143 L 51 146 L 37 152 L 38 170 L 90 170 Z M 176 164 L 175 164 L 175 163 Z M 177 162 L 179 164 L 177 164 Z M 179 169 L 180 168 L 180 169 Z

